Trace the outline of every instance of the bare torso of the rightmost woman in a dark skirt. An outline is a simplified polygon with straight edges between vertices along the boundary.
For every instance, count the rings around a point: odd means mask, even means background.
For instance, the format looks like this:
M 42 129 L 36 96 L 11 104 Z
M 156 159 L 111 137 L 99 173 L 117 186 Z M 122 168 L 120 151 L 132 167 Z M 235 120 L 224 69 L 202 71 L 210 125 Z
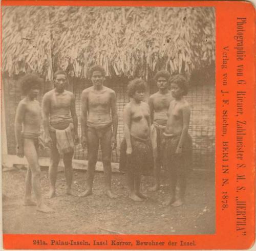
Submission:
M 189 108 L 185 100 L 173 100 L 167 112 L 168 120 L 165 128 L 165 133 L 180 135 L 183 128 L 183 110 Z

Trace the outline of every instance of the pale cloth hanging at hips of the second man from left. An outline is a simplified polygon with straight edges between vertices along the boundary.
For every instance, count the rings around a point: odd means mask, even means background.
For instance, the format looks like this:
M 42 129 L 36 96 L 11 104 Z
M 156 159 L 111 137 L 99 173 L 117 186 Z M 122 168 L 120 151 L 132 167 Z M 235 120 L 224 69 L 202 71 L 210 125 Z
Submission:
M 59 154 L 66 154 L 74 151 L 74 125 L 70 123 L 64 130 L 51 128 L 50 136 L 52 145 L 56 146 Z

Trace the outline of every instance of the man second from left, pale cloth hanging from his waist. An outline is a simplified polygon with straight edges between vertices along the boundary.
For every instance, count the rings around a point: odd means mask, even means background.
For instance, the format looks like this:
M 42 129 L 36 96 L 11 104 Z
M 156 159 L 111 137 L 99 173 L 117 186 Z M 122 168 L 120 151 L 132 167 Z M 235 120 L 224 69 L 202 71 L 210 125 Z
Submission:
M 50 144 L 49 197 L 55 196 L 55 183 L 60 155 L 63 155 L 65 176 L 67 182 L 66 193 L 72 192 L 72 157 L 74 141 L 77 144 L 77 115 L 73 93 L 65 90 L 67 75 L 64 71 L 54 74 L 54 89 L 44 95 L 42 99 L 42 117 L 44 120 L 45 143 Z

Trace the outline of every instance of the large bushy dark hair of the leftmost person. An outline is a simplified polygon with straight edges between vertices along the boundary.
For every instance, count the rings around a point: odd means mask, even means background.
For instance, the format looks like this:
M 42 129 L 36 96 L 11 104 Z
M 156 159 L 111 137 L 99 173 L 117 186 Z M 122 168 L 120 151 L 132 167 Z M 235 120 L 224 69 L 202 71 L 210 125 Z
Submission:
M 19 80 L 20 89 L 23 95 L 27 95 L 33 86 L 41 88 L 44 80 L 38 77 L 36 74 L 26 74 Z

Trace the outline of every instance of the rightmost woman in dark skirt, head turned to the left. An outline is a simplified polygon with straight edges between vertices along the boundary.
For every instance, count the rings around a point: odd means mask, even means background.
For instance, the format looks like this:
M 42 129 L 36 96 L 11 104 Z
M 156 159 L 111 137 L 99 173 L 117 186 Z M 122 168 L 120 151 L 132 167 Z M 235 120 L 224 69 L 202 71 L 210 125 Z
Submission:
M 164 161 L 169 171 L 170 195 L 164 204 L 179 207 L 184 203 L 186 176 L 191 167 L 192 140 L 188 134 L 190 106 L 184 99 L 188 84 L 182 75 L 170 79 L 170 91 L 174 100 L 170 102 L 168 120 L 164 131 Z M 176 185 L 179 182 L 179 195 Z

